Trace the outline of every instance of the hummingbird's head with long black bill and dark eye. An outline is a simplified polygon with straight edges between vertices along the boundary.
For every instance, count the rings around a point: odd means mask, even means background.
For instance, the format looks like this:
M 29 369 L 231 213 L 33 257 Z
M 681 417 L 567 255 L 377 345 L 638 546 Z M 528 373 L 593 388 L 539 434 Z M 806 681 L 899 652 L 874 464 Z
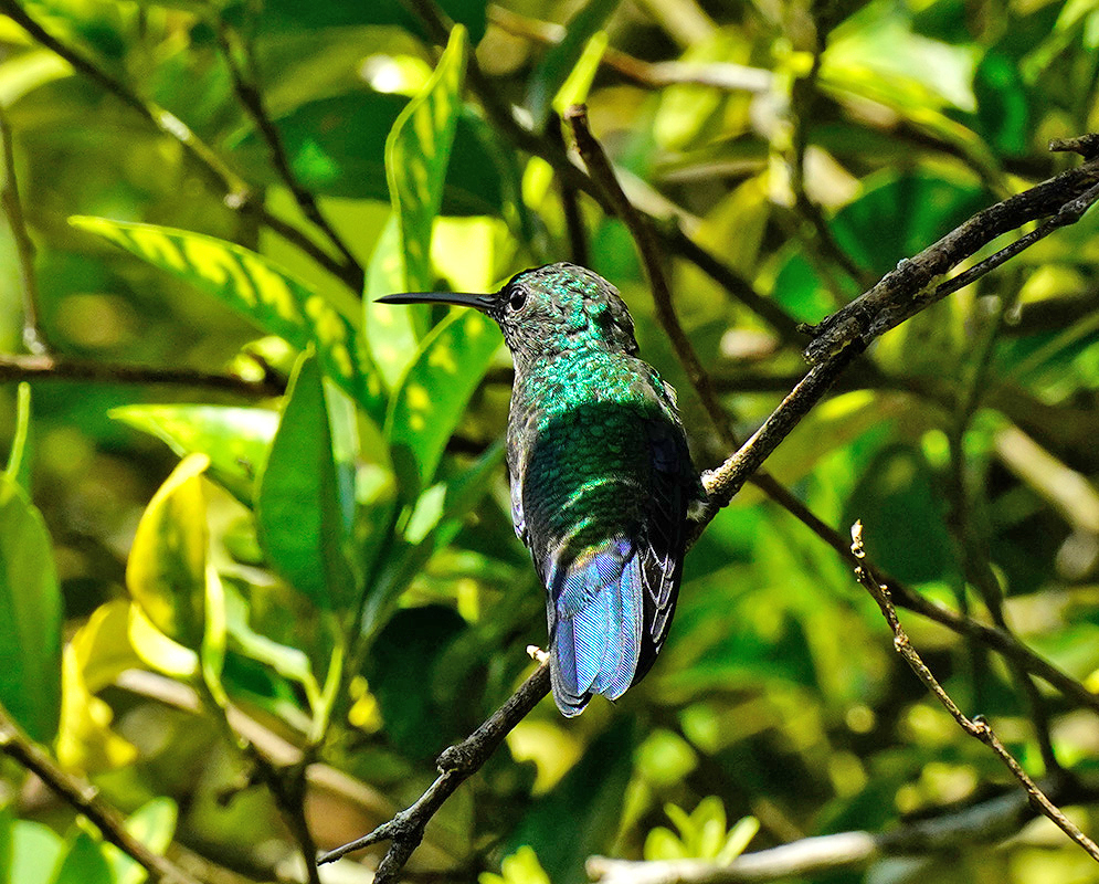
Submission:
M 499 325 L 520 369 L 533 359 L 569 351 L 637 352 L 633 319 L 619 291 L 598 273 L 575 264 L 547 264 L 517 273 L 490 295 L 409 294 L 379 301 L 479 309 Z

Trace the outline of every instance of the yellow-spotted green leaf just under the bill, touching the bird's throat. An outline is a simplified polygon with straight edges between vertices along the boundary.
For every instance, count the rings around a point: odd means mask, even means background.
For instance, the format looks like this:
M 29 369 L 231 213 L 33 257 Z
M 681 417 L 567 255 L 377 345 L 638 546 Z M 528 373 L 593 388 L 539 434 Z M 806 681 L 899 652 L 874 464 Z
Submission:
M 418 493 L 434 477 L 443 449 L 499 346 L 492 319 L 462 307 L 424 339 L 385 420 L 405 493 Z

